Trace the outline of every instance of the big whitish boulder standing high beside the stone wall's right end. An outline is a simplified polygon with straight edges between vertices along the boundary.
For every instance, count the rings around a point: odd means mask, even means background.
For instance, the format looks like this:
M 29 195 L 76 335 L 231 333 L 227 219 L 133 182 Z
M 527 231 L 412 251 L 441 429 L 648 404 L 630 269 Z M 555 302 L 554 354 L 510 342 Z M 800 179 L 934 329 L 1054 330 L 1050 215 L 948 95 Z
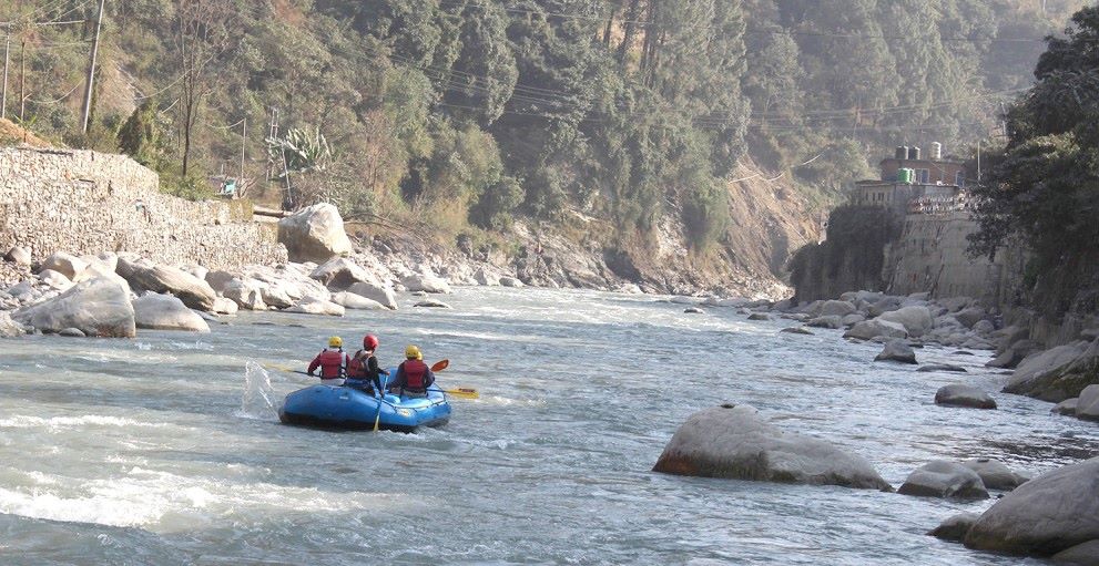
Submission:
M 325 263 L 350 254 L 352 240 L 344 231 L 339 210 L 320 203 L 278 220 L 278 241 L 286 246 L 291 261 Z

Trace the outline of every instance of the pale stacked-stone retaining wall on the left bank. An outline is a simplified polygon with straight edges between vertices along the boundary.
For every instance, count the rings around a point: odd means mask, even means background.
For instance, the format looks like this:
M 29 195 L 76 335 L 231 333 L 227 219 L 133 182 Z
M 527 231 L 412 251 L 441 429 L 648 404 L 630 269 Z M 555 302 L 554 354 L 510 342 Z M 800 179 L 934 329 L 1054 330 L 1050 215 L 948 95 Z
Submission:
M 211 269 L 286 261 L 273 225 L 241 202 L 190 202 L 157 191 L 156 173 L 123 155 L 0 148 L 0 250 L 132 251 Z M 0 251 L 2 253 L 2 251 Z

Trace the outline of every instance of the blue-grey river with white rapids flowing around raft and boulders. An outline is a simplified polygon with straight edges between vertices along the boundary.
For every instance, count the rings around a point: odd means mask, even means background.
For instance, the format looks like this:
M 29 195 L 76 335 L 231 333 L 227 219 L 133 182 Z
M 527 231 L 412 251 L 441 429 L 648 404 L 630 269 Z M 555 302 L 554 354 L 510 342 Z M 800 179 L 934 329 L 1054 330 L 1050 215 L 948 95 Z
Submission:
M 243 313 L 210 335 L 0 341 L 0 563 L 1040 564 L 925 533 L 977 503 L 651 472 L 693 412 L 747 403 L 869 460 L 894 486 L 933 459 L 1040 473 L 1099 454 L 1093 424 L 994 393 L 987 356 L 917 350 L 967 375 L 873 363 L 838 331 L 779 333 L 732 309 L 653 297 L 460 288 L 454 310 L 342 319 Z M 405 301 L 408 303 L 408 301 Z M 281 425 L 274 407 L 340 335 L 415 342 L 472 387 L 417 434 Z M 268 402 L 269 400 L 269 402 Z

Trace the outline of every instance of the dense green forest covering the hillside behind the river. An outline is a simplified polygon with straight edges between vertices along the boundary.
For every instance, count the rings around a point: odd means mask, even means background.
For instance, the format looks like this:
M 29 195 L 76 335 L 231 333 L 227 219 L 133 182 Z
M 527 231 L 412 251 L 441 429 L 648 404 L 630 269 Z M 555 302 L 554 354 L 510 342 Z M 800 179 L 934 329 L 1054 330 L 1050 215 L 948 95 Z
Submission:
M 243 168 L 277 200 L 350 217 L 500 230 L 573 210 L 631 241 L 673 219 L 695 249 L 723 240 L 745 158 L 826 198 L 883 147 L 983 134 L 1056 16 L 1007 0 L 111 0 L 84 134 L 96 6 L 0 0 L 28 45 L 12 59 L 22 120 L 121 147 L 180 193 Z M 324 166 L 268 151 L 291 132 Z

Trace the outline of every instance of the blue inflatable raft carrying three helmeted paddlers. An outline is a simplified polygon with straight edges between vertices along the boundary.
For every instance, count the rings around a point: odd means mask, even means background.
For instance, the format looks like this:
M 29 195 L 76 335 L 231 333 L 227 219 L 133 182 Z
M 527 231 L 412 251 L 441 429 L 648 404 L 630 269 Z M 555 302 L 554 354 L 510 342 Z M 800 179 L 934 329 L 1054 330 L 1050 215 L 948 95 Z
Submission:
M 278 409 L 283 423 L 322 429 L 372 430 L 377 420 L 379 429 L 415 432 L 420 426 L 441 426 L 449 419 L 450 403 L 438 385 L 431 385 L 426 398 L 387 394 L 385 399 L 350 385 L 313 385 L 286 395 Z

